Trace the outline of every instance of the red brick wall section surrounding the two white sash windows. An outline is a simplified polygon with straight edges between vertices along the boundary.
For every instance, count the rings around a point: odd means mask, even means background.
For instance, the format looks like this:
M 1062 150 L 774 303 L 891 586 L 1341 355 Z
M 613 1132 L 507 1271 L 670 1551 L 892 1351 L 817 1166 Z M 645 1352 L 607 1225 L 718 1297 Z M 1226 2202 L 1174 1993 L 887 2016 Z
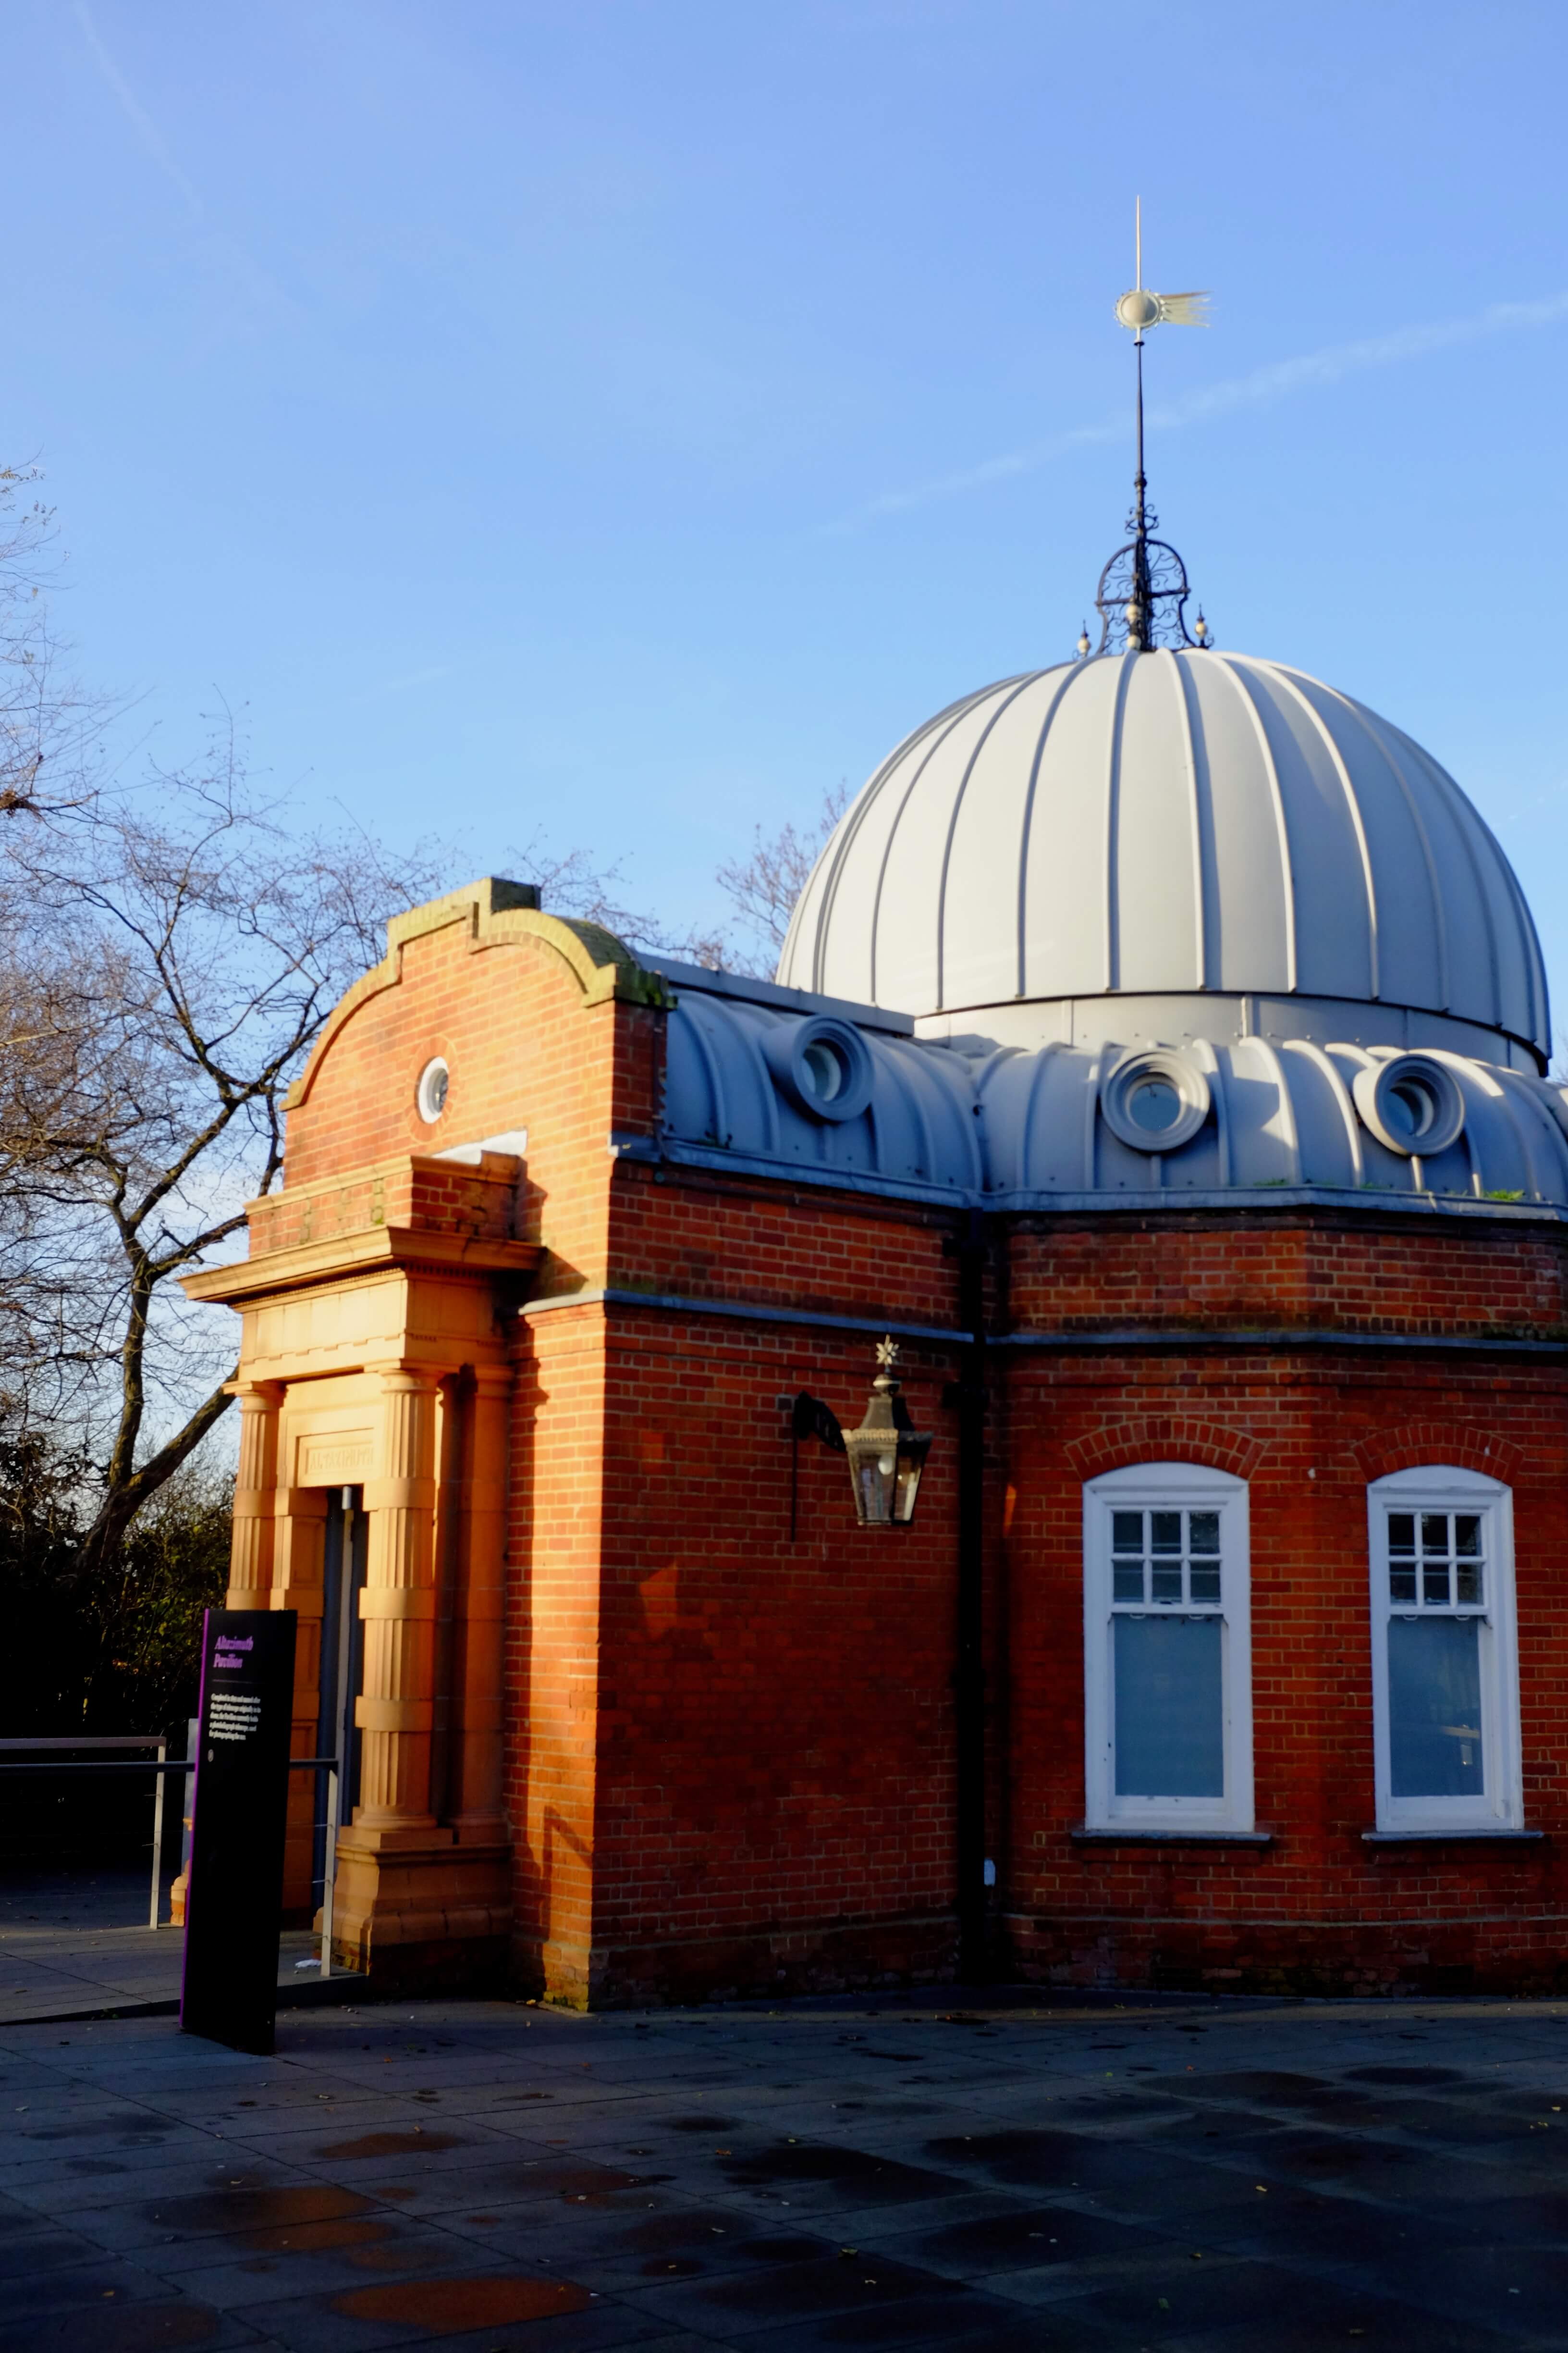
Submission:
M 1530 1221 L 1088 1219 L 1013 1238 L 1013 1304 L 1058 1332 L 1180 1315 L 1544 1334 L 1561 1332 L 1561 1299 L 1563 1240 Z M 1566 1388 L 1556 1355 L 1399 1346 L 1013 1355 L 1004 1906 L 1027 1972 L 1220 1991 L 1561 1988 Z M 1276 1835 L 1265 1852 L 1070 1838 L 1084 1802 L 1081 1482 L 1150 1459 L 1213 1464 L 1251 1487 L 1258 1824 Z M 1375 1821 L 1366 1482 L 1432 1461 L 1514 1487 L 1526 1819 L 1547 1831 L 1540 1845 L 1361 1840 Z

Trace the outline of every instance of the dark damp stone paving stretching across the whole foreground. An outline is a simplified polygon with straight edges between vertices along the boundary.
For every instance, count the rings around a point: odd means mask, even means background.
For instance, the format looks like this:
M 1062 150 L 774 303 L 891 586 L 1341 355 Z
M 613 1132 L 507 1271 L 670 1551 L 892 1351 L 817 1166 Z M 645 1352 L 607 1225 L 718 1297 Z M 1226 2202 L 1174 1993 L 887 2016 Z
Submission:
M 0 2031 L 0 2353 L 1568 2346 L 1568 2005 Z

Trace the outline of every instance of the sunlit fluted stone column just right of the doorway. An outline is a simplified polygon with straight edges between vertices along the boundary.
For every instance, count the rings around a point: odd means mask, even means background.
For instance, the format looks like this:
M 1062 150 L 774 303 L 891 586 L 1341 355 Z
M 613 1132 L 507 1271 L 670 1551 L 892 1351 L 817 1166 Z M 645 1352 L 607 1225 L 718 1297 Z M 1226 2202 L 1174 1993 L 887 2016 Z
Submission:
M 381 1475 L 364 1487 L 364 1689 L 355 1831 L 430 1838 L 435 1715 L 435 1377 L 381 1374 Z

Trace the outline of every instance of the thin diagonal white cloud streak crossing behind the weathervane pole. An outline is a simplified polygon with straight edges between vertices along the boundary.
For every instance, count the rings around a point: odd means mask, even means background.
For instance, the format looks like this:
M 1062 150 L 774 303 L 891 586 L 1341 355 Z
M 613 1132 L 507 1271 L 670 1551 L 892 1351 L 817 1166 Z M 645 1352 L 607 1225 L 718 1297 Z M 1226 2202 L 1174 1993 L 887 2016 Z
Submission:
M 1293 393 L 1314 391 L 1324 384 L 1340 384 L 1345 376 L 1363 374 L 1371 367 L 1399 367 L 1403 360 L 1422 360 L 1432 351 L 1448 351 L 1455 344 L 1479 344 L 1493 334 L 1514 334 L 1521 327 L 1552 327 L 1568 320 L 1568 294 L 1547 294 L 1540 301 L 1495 301 L 1469 318 L 1439 318 L 1425 325 L 1396 327 L 1392 334 L 1373 334 L 1361 344 L 1328 344 L 1324 351 L 1305 351 L 1295 360 L 1274 360 L 1255 367 L 1246 376 L 1225 376 L 1206 384 L 1180 400 L 1168 400 L 1150 409 L 1150 424 L 1164 433 L 1182 426 L 1201 426 L 1213 416 L 1229 416 L 1232 409 L 1265 407 L 1269 400 L 1288 400 Z M 1095 442 L 1119 442 L 1126 438 L 1126 416 L 1093 426 L 1072 426 L 1009 449 L 1004 456 L 983 459 L 957 473 L 914 482 L 907 489 L 889 489 L 870 499 L 849 522 L 875 522 L 882 515 L 905 515 L 917 506 L 933 506 L 938 499 L 961 499 L 971 489 L 987 489 L 1020 473 L 1037 473 L 1072 449 Z

